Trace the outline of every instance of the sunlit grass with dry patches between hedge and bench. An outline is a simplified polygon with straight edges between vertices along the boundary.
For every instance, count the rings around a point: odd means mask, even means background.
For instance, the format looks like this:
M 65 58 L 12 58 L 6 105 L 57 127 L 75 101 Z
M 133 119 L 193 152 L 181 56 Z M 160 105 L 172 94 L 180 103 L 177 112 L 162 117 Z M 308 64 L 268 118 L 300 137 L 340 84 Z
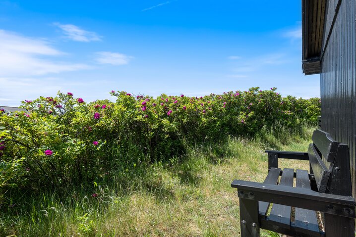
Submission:
M 302 137 L 261 132 L 252 139 L 190 147 L 169 163 L 142 162 L 108 174 L 111 183 L 93 184 L 94 197 L 80 189 L 64 198 L 56 191 L 16 196 L 0 214 L 0 236 L 239 236 L 238 198 L 231 182 L 262 182 L 268 172 L 264 150 L 305 151 L 312 130 L 306 128 Z M 280 167 L 309 166 L 282 160 Z

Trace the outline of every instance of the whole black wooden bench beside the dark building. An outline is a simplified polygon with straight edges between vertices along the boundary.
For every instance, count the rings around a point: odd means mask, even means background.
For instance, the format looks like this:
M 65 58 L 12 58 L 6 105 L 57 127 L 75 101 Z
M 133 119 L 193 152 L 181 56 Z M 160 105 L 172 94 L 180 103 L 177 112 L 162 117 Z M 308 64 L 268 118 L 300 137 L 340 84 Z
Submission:
M 241 237 L 259 237 L 260 229 L 298 237 L 355 237 L 349 147 L 321 130 L 314 131 L 312 140 L 307 153 L 267 150 L 269 171 L 263 183 L 233 181 Z M 310 174 L 281 170 L 279 158 L 308 160 Z M 316 211 L 324 214 L 325 232 L 319 229 Z

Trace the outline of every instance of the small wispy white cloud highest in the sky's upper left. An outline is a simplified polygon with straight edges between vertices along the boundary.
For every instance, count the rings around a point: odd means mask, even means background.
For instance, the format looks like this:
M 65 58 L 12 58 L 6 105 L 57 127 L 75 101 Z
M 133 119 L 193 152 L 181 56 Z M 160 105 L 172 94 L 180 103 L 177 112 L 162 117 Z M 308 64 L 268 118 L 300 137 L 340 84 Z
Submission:
M 79 42 L 90 42 L 90 41 L 101 41 L 101 36 L 99 36 L 95 32 L 85 31 L 78 26 L 71 24 L 59 24 L 54 23 L 54 25 L 58 26 L 64 33 L 65 38 L 70 39 L 72 41 Z

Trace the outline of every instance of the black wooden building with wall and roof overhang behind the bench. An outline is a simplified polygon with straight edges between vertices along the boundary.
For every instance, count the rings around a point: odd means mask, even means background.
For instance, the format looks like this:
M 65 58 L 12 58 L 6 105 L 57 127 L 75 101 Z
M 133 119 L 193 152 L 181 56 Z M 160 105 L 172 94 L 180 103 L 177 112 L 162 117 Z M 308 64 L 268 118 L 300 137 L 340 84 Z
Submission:
M 320 73 L 321 129 L 350 146 L 356 195 L 356 0 L 302 0 L 302 70 Z

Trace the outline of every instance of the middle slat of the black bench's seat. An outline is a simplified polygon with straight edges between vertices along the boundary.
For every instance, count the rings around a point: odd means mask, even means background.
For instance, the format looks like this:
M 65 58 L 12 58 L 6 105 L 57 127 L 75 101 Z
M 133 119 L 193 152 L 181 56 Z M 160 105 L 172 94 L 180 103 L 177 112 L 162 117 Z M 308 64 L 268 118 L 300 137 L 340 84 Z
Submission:
M 294 169 L 283 169 L 280 186 L 293 187 L 294 180 Z M 280 225 L 290 226 L 291 225 L 291 207 L 273 204 L 271 213 L 268 217 L 270 221 L 278 222 Z

